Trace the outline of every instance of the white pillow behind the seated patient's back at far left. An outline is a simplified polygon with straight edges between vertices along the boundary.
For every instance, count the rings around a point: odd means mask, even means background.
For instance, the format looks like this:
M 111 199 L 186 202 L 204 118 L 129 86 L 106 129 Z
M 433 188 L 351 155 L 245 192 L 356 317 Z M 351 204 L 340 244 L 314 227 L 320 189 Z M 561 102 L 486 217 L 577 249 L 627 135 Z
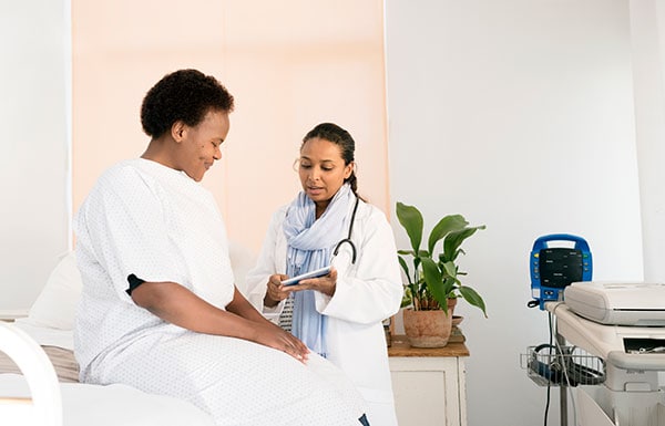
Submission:
M 27 322 L 51 329 L 73 330 L 82 287 L 74 251 L 70 251 L 51 271 L 47 285 L 30 308 Z

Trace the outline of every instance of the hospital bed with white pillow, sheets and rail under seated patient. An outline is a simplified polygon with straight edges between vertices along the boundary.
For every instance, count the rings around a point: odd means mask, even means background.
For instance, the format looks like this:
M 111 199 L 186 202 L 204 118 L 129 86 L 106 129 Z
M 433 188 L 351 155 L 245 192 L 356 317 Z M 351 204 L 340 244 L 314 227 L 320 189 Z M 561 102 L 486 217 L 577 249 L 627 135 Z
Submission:
M 232 245 L 231 254 L 244 277 L 242 271 L 253 264 L 250 253 Z M 80 292 L 70 252 L 28 316 L 0 322 L 0 425 L 214 426 L 211 416 L 185 401 L 121 384 L 79 383 L 72 329 Z

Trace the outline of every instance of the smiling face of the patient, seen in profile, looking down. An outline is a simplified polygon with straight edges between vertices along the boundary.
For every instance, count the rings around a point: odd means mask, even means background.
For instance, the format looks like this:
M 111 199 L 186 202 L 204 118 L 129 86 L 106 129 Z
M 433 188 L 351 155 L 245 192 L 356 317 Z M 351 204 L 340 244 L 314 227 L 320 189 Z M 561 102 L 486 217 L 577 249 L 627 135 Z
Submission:
M 222 158 L 219 146 L 226 139 L 231 123 L 228 113 L 209 111 L 194 127 L 183 127 L 177 146 L 177 167 L 192 179 L 201 181 L 213 164 Z

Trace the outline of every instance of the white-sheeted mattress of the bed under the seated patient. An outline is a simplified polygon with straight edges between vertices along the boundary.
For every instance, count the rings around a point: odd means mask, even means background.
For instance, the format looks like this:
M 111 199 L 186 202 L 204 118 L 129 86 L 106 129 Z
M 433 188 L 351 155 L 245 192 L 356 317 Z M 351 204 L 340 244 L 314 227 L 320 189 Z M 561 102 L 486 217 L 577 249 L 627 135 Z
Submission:
M 40 328 L 24 321 L 14 325 L 40 345 L 73 350 L 71 331 Z M 212 417 L 187 402 L 125 385 L 60 383 L 60 389 L 64 426 L 214 426 Z M 30 395 L 22 375 L 0 374 L 0 397 Z M 4 424 L 1 408 L 0 405 L 0 424 Z

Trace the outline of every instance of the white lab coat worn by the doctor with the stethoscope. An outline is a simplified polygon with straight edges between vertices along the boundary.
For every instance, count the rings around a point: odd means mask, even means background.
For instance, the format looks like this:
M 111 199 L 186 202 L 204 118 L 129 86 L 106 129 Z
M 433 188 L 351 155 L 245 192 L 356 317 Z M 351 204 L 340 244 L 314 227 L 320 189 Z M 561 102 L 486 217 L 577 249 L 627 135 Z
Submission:
M 284 305 L 265 308 L 263 299 L 268 277 L 286 271 L 286 209 L 273 215 L 257 264 L 247 276 L 248 299 L 268 318 L 278 318 Z M 340 239 L 347 237 L 348 228 L 344 233 Z M 351 240 L 357 248 L 356 263 L 351 264 L 350 246 L 342 245 L 332 261 L 337 269 L 335 294 L 317 292 L 316 309 L 328 316 L 328 359 L 365 397 L 370 425 L 393 426 L 397 418 L 382 320 L 397 313 L 403 290 L 392 228 L 381 210 L 360 201 Z

